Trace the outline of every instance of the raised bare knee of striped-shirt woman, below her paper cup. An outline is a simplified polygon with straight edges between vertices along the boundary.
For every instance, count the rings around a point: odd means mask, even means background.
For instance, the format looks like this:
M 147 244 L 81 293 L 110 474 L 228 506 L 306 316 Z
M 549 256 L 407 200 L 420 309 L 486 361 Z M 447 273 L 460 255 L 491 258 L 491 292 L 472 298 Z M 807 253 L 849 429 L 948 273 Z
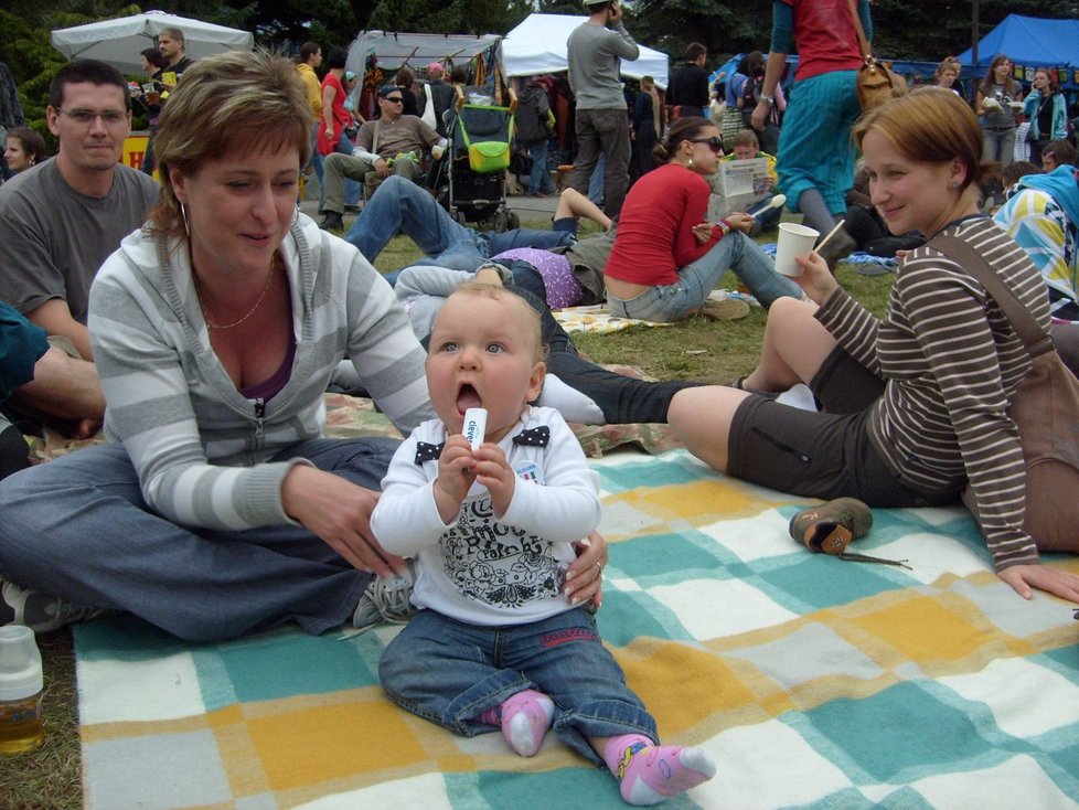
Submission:
M 777 299 L 768 310 L 757 367 L 746 377 L 752 391 L 787 391 L 808 383 L 835 349 L 835 338 L 813 318 L 816 305 Z

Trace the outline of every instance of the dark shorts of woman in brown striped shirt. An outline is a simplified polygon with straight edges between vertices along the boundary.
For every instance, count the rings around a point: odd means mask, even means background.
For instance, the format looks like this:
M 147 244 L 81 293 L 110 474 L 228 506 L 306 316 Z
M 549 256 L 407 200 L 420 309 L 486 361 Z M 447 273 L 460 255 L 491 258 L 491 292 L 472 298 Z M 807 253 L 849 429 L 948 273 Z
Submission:
M 870 405 L 884 381 L 835 349 L 810 382 L 826 413 L 750 396 L 730 425 L 727 472 L 780 492 L 857 498 L 870 507 L 952 503 L 959 489 L 914 490 L 899 480 L 869 440 Z

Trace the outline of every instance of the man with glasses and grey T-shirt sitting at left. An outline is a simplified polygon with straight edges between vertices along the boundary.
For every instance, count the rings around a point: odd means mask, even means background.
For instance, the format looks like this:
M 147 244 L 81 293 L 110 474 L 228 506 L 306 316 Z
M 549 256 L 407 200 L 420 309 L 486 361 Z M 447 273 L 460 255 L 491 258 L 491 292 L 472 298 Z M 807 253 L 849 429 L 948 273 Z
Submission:
M 72 354 L 93 359 L 86 330 L 90 283 L 105 258 L 158 199 L 152 179 L 119 163 L 131 129 L 131 99 L 119 71 L 102 62 L 64 65 L 49 87 L 52 160 L 0 186 L 0 300 L 44 329 Z M 89 365 L 89 363 L 87 363 Z M 93 371 L 89 365 L 88 371 Z M 99 420 L 96 375 L 86 403 L 73 399 L 85 431 Z

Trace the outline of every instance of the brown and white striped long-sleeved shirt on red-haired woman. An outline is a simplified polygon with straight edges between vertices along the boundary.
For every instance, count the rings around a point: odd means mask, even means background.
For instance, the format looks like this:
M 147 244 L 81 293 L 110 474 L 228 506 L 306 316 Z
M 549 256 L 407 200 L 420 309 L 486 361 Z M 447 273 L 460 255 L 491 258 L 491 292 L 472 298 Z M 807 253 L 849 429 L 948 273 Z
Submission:
M 1048 330 L 1045 283 L 992 220 L 964 220 L 944 233 L 984 256 Z M 1034 541 L 1023 531 L 1023 451 L 1005 413 L 1030 359 L 985 289 L 957 263 L 920 247 L 896 274 L 883 320 L 843 290 L 816 317 L 885 380 L 869 437 L 904 483 L 939 491 L 969 479 L 996 569 L 1036 563 Z

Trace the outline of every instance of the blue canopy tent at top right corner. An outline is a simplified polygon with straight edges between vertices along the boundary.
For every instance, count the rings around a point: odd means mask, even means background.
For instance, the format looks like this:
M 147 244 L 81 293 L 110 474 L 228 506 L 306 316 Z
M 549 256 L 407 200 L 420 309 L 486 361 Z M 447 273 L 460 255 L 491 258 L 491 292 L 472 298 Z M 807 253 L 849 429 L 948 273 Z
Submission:
M 1073 88 L 1079 86 L 1079 20 L 1049 20 L 1039 17 L 1008 14 L 1004 20 L 977 42 L 977 62 L 973 49 L 959 55 L 966 67 L 981 68 L 984 74 L 993 56 L 1007 54 L 1016 67 L 1016 78 L 1029 82 L 1026 75 L 1035 67 L 1056 67 L 1060 85 Z M 1022 71 L 1022 73 L 1021 73 Z

